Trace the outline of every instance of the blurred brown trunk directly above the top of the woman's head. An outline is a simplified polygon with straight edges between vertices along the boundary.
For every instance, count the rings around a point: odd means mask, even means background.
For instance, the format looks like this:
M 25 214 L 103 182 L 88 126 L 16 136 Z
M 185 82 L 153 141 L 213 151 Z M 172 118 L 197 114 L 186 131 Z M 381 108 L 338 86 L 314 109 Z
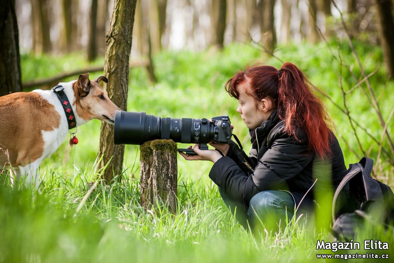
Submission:
M 274 24 L 273 9 L 275 0 L 266 0 L 261 5 L 260 13 L 262 14 L 260 20 L 261 30 L 261 44 L 268 51 L 273 52 L 276 45 L 276 32 Z

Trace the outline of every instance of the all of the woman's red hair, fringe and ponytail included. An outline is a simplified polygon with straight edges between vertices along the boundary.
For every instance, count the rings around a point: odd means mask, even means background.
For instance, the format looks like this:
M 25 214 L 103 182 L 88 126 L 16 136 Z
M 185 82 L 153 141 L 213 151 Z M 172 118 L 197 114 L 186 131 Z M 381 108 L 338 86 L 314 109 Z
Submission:
M 297 138 L 297 128 L 305 131 L 309 151 L 320 158 L 331 155 L 330 134 L 332 122 L 323 102 L 312 92 L 312 84 L 294 64 L 286 62 L 278 71 L 272 66 L 251 66 L 239 71 L 225 85 L 230 96 L 238 100 L 237 86 L 249 81 L 250 94 L 255 103 L 269 98 L 278 109 L 278 116 L 285 120 L 288 135 Z

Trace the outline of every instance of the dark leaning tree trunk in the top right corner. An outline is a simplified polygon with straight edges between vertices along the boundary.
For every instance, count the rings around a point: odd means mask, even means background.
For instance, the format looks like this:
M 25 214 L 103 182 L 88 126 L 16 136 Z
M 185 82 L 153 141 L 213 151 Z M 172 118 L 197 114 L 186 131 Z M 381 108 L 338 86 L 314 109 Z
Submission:
M 374 0 L 379 24 L 379 39 L 385 57 L 387 74 L 394 78 L 394 22 L 392 3 L 390 1 Z

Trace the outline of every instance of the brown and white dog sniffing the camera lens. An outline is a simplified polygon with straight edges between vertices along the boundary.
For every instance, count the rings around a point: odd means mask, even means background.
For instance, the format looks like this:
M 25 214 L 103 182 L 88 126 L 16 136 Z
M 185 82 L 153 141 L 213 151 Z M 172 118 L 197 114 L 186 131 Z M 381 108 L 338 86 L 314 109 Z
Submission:
M 59 83 L 70 101 L 76 125 L 99 119 L 113 124 L 120 110 L 99 86 L 106 77 Z M 68 135 L 68 122 L 61 101 L 52 90 L 16 92 L 0 97 L 0 170 L 11 162 L 16 177 L 26 176 L 25 184 L 38 187 L 37 169 Z M 5 154 L 8 151 L 8 157 Z M 8 160 L 9 159 L 9 160 Z

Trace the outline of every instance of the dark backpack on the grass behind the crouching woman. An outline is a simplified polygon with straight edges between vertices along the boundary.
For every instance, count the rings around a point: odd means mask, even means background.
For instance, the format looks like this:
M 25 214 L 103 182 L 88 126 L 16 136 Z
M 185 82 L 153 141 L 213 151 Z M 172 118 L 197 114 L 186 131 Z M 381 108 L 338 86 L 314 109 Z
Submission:
M 394 194 L 389 186 L 371 177 L 374 161 L 363 157 L 349 169 L 335 191 L 331 233 L 350 240 L 366 220 L 387 229 L 394 223 Z

